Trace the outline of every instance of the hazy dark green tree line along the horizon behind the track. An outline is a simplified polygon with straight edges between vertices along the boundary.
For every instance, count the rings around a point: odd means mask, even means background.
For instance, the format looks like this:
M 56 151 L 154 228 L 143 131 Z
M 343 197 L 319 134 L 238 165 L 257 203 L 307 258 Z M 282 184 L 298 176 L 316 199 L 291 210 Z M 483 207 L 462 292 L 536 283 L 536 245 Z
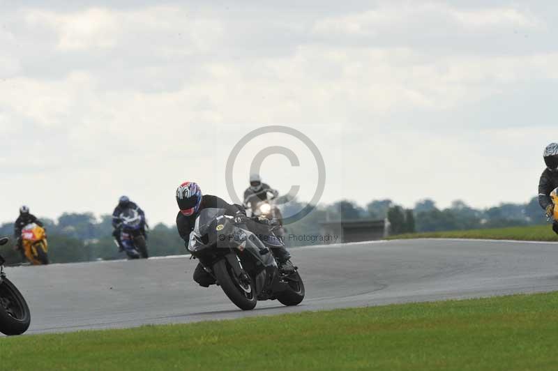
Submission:
M 280 202 L 286 200 L 280 199 Z M 282 205 L 283 215 L 294 215 L 305 206 L 296 199 Z M 149 211 L 147 214 L 149 219 Z M 89 262 L 125 258 L 119 253 L 112 239 L 111 215 L 99 219 L 93 213 L 63 213 L 57 220 L 40 218 L 47 229 L 49 257 L 52 263 Z M 342 200 L 334 204 L 319 205 L 305 218 L 287 225 L 287 235 L 322 234 L 322 222 L 335 220 L 387 219 L 391 234 L 436 232 L 455 229 L 478 229 L 536 225 L 545 223 L 543 211 L 536 197 L 526 204 L 500 204 L 488 209 L 474 209 L 460 200 L 446 209 L 439 209 L 432 199 L 417 202 L 412 209 L 405 209 L 391 199 L 372 200 L 364 207 Z M 12 236 L 13 223 L 0 225 L 0 236 Z M 318 242 L 317 242 L 318 243 Z M 308 242 L 289 241 L 297 246 Z M 163 223 L 149 231 L 151 256 L 186 254 L 184 242 L 176 227 Z M 13 250 L 13 241 L 0 248 L 8 264 L 22 262 L 19 252 Z

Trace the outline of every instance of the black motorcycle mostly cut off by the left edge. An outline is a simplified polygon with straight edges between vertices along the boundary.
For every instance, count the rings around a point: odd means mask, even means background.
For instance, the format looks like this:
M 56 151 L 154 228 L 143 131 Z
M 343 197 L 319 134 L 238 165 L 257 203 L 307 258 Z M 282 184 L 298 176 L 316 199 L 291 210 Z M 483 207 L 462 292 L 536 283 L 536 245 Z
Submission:
M 6 245 L 8 238 L 0 239 Z M 0 255 L 0 332 L 5 335 L 21 335 L 31 323 L 31 313 L 20 290 L 6 278 L 3 271 L 6 260 Z

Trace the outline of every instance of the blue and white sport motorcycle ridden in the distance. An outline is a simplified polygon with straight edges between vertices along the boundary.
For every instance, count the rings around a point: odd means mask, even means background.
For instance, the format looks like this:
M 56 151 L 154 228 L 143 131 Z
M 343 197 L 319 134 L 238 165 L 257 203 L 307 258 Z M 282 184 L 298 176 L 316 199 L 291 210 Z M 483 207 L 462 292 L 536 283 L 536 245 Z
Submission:
M 147 259 L 146 222 L 136 209 L 126 209 L 120 214 L 122 248 L 130 259 Z M 115 241 L 116 242 L 116 241 Z M 118 245 L 118 243 L 116 243 Z

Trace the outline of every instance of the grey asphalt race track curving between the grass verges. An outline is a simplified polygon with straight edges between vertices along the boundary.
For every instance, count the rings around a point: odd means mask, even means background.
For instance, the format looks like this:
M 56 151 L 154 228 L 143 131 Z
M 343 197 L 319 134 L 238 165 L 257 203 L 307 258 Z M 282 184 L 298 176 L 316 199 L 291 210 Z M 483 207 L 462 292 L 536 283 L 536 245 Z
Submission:
M 306 299 L 243 312 L 192 280 L 196 260 L 8 267 L 31 308 L 27 333 L 123 328 L 301 310 L 558 290 L 558 244 L 409 240 L 291 249 Z

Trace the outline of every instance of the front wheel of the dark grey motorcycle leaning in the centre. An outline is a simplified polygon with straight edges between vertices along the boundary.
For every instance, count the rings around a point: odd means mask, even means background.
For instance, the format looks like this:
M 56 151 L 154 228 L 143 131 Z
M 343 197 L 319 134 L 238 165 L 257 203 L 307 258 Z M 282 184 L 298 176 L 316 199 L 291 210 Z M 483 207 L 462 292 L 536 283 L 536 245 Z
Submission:
M 217 282 L 229 299 L 241 308 L 241 310 L 252 310 L 257 303 L 254 282 L 252 278 L 241 281 L 236 277 L 227 259 L 221 259 L 213 265 Z

